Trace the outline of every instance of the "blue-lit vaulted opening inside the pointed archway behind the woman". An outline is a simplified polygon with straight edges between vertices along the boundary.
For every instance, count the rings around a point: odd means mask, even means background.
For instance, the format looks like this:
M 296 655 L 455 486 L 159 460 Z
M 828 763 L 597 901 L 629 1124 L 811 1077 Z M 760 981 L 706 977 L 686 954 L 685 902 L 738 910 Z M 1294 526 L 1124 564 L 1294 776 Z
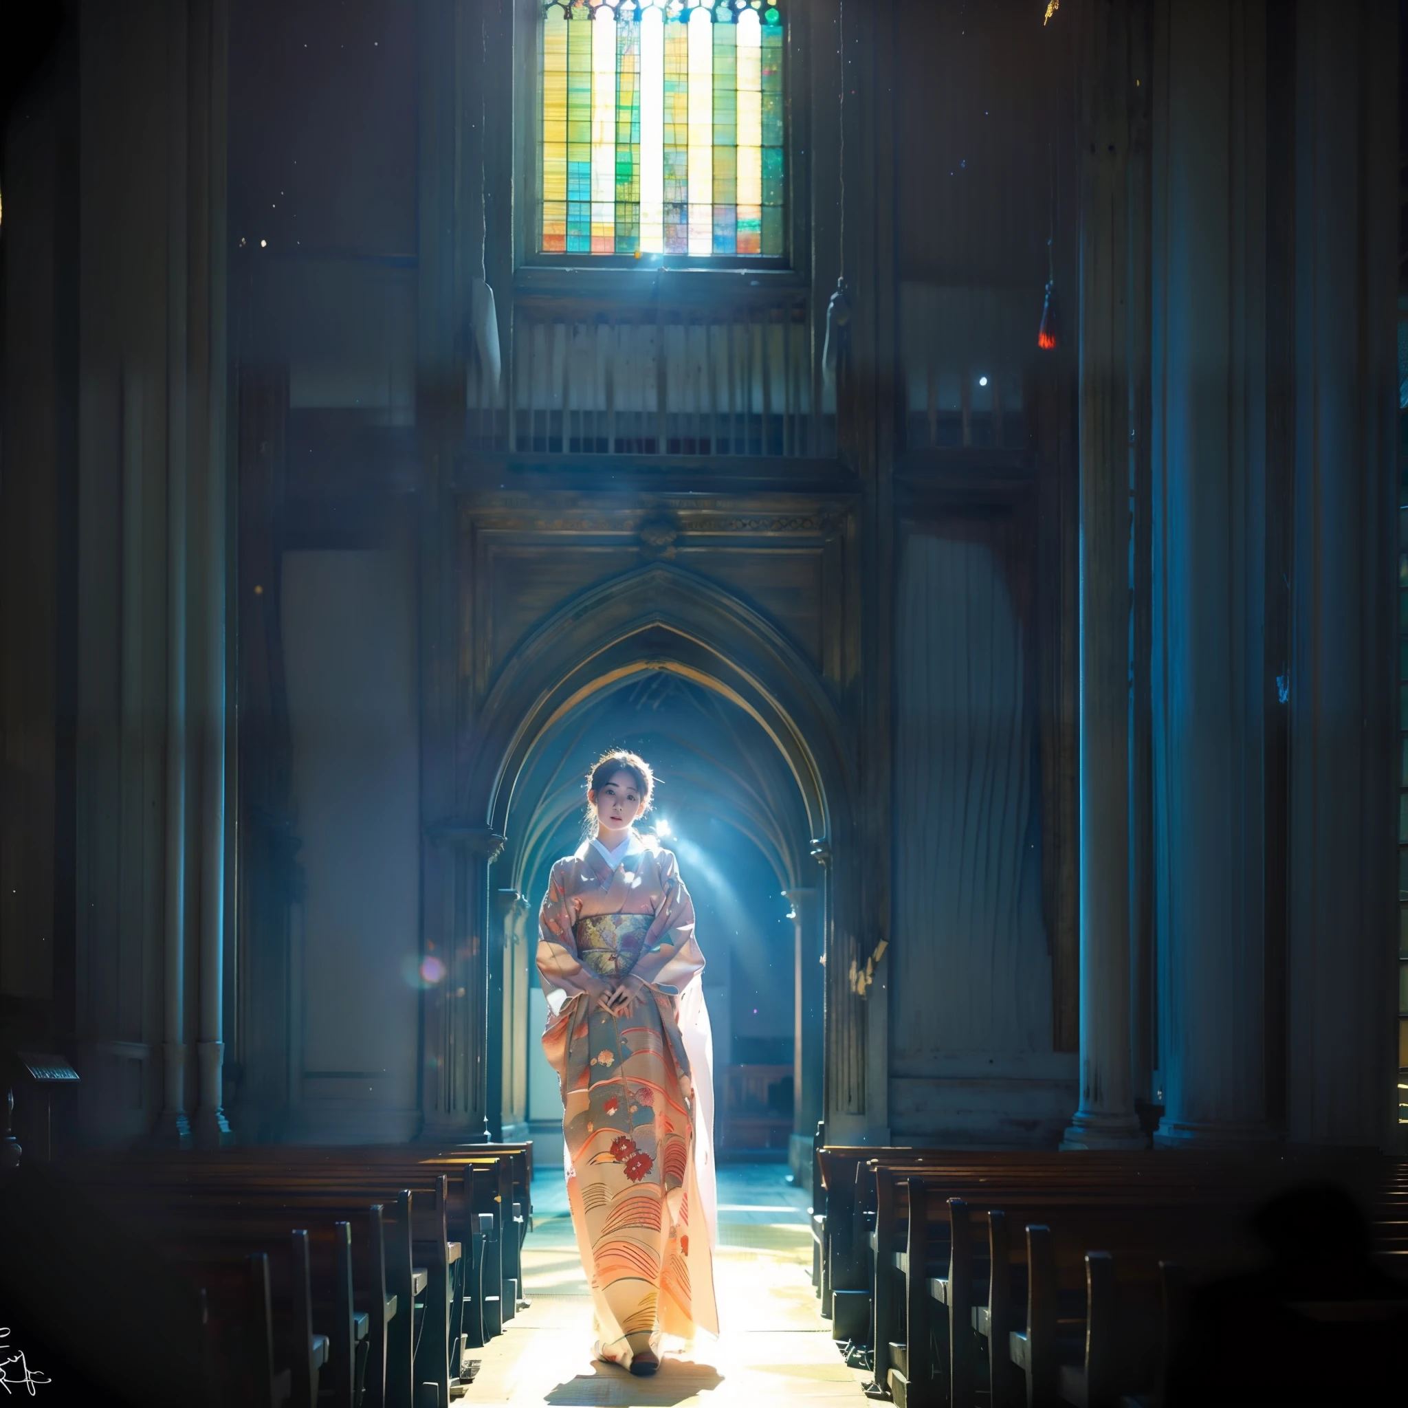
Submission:
M 790 1136 L 819 1115 L 819 1045 L 797 1041 L 821 1021 L 821 934 L 800 893 L 814 869 L 805 810 L 756 721 L 665 669 L 627 676 L 560 718 L 515 788 L 496 866 L 501 893 L 524 901 L 504 946 L 501 1124 L 529 1121 L 545 1159 L 555 1152 L 560 1101 L 536 1042 L 546 1005 L 532 963 L 534 912 L 552 862 L 580 841 L 582 779 L 604 745 L 632 748 L 656 769 L 648 825 L 680 857 L 694 897 L 708 962 L 719 1156 L 781 1159 Z M 808 966 L 814 972 L 803 972 Z

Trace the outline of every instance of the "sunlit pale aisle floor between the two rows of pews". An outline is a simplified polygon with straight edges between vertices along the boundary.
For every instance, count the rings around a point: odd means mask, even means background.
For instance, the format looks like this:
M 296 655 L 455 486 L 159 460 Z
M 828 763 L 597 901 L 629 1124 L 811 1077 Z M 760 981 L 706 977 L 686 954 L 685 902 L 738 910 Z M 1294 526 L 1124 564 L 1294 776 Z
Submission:
M 694 1362 L 667 1357 L 632 1378 L 589 1354 L 591 1311 L 572 1236 L 562 1170 L 534 1178 L 534 1232 L 524 1247 L 532 1305 L 482 1350 L 462 1404 L 513 1402 L 684 1408 L 748 1404 L 863 1404 L 867 1377 L 842 1363 L 811 1288 L 807 1195 L 781 1164 L 719 1170 L 715 1260 L 721 1336 Z

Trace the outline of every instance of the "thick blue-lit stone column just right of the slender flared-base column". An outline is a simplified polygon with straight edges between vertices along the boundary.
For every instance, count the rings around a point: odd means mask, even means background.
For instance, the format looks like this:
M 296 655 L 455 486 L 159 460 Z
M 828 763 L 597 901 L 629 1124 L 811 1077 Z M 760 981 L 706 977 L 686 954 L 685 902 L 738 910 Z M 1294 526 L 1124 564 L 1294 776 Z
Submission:
M 1266 13 L 1170 6 L 1156 180 L 1155 676 L 1167 1146 L 1269 1136 Z

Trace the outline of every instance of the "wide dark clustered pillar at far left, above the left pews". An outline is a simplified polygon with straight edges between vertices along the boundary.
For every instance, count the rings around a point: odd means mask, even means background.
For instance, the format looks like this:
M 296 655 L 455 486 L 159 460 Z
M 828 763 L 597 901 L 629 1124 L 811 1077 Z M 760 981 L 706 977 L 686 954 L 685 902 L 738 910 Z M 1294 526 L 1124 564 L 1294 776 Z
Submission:
M 222 1066 L 227 0 L 70 18 L 82 1118 L 180 1146 L 197 1100 L 218 1132 Z M 117 168 L 145 193 L 121 208 Z M 113 1083 L 114 1052 L 152 1079 Z

